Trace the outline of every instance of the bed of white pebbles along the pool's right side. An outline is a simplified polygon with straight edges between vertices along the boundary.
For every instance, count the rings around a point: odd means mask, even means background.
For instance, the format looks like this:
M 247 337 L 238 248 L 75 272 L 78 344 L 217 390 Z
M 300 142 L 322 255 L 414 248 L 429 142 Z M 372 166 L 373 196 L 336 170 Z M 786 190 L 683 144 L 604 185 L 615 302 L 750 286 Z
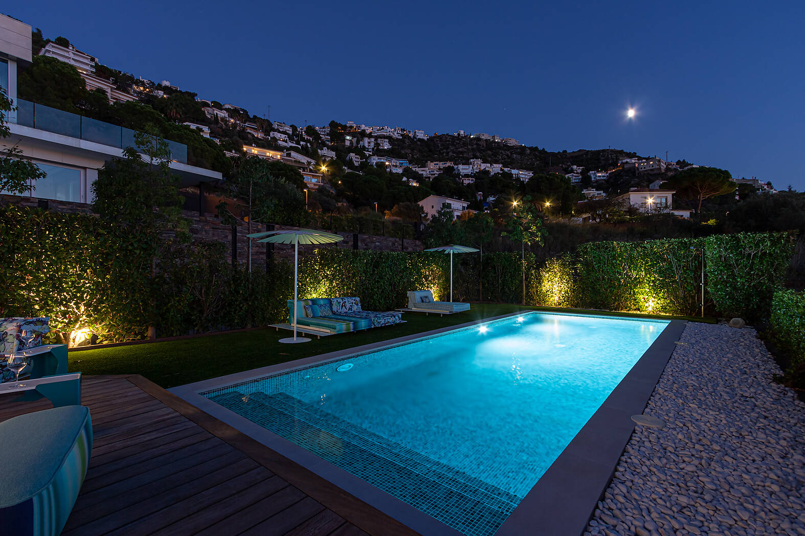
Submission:
M 751 328 L 687 324 L 585 536 L 805 536 L 805 404 Z

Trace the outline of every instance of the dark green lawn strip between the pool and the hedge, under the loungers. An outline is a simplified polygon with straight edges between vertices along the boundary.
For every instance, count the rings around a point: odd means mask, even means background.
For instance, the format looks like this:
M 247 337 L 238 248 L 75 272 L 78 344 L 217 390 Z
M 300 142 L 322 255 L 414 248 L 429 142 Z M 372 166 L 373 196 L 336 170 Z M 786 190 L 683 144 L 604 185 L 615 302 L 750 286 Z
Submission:
M 200 336 L 192 339 L 93 348 L 68 353 L 68 367 L 70 372 L 85 374 L 142 374 L 167 389 L 193 381 L 427 332 L 431 329 L 446 328 L 517 311 L 539 309 L 547 310 L 549 308 L 526 307 L 510 303 L 473 303 L 471 311 L 455 315 L 403 313 L 405 324 L 343 333 L 321 339 L 314 338 L 303 344 L 281 344 L 278 340 L 289 336 L 291 332 L 286 330 L 278 332 L 275 328 L 264 328 L 246 332 L 224 332 L 220 335 Z M 577 309 L 550 310 L 623 315 L 623 313 Z M 672 317 L 651 316 L 651 318 Z M 674 318 L 701 320 L 696 317 Z M 708 320 L 710 319 L 705 319 L 705 321 Z

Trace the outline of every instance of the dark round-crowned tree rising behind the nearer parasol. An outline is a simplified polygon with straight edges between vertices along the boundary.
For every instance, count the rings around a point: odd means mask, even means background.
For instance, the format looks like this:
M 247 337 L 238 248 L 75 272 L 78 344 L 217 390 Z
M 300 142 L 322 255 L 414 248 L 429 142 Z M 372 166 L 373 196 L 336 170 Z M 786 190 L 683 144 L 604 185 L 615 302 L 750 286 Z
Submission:
M 253 223 L 282 222 L 293 225 L 302 220 L 302 192 L 282 177 L 273 175 L 271 164 L 257 156 L 240 157 L 237 172 L 226 181 L 229 195 L 246 205 L 246 214 L 237 215 L 226 203 L 218 205 L 218 212 L 229 223 L 243 218 L 246 221 L 247 234 L 251 234 Z M 246 261 L 249 271 L 252 266 L 251 249 L 252 241 L 249 241 L 249 256 Z

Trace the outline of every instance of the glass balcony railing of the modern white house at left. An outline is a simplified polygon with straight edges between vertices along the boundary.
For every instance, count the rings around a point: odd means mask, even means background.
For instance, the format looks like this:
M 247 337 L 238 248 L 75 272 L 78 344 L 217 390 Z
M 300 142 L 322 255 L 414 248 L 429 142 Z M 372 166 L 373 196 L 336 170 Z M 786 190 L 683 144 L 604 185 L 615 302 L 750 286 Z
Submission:
M 97 119 L 85 118 L 76 113 L 63 112 L 60 109 L 35 104 L 31 101 L 23 101 L 23 99 L 17 99 L 15 104 L 17 105 L 18 125 L 118 147 L 118 149 L 137 146 L 134 142 L 134 130 L 97 121 Z M 171 140 L 165 141 L 171 150 L 171 160 L 188 163 L 188 146 L 184 143 L 171 142 Z

